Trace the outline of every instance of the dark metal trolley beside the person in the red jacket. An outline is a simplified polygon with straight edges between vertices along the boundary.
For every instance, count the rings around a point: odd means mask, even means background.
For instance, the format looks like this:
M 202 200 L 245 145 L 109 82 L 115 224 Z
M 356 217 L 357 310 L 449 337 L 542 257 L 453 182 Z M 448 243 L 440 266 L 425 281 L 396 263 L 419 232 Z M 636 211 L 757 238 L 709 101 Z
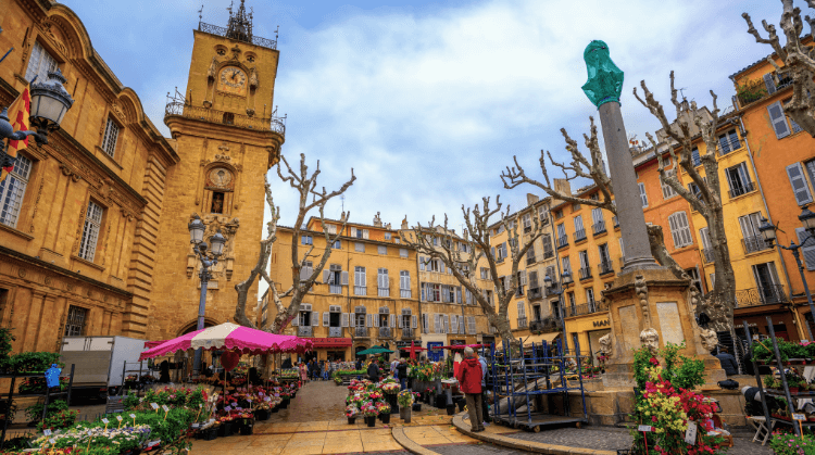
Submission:
M 580 345 L 575 346 L 580 352 Z M 527 431 L 539 432 L 547 426 L 563 426 L 575 424 L 580 428 L 588 422 L 586 412 L 586 394 L 584 392 L 580 355 L 564 354 L 561 341 L 553 344 L 542 342 L 524 346 L 523 341 L 516 353 L 509 346 L 496 350 L 494 345 L 481 350 L 491 366 L 490 379 L 494 395 L 494 405 L 490 418 L 496 424 L 513 428 L 524 428 Z M 574 358 L 577 365 L 577 383 L 569 386 L 565 370 L 567 359 Z M 575 381 L 573 381 L 574 383 Z M 488 387 L 489 388 L 489 387 Z M 572 410 L 570 391 L 580 391 L 582 417 L 580 409 Z M 560 396 L 563 414 L 556 415 L 555 399 Z M 506 412 L 501 412 L 500 401 L 506 399 Z M 518 400 L 521 399 L 521 400 Z M 543 405 L 547 400 L 547 405 Z M 522 404 L 518 405 L 518 401 Z M 521 409 L 526 406 L 526 409 Z M 532 410 L 535 407 L 535 410 Z M 546 408 L 548 412 L 543 412 Z M 575 417 L 577 415 L 577 417 Z

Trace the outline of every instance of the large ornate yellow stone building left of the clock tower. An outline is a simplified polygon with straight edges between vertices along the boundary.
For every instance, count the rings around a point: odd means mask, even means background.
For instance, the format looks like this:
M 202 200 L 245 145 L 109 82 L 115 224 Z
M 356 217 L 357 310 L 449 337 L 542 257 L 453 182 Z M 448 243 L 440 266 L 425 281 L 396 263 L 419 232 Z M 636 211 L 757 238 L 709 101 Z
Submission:
M 74 99 L 49 143 L 30 139 L 0 184 L 0 324 L 14 328 L 14 352 L 59 351 L 65 336 L 143 338 L 179 155 L 71 9 L 5 1 L 0 27 L 0 49 L 14 48 L 0 105 L 57 68 Z

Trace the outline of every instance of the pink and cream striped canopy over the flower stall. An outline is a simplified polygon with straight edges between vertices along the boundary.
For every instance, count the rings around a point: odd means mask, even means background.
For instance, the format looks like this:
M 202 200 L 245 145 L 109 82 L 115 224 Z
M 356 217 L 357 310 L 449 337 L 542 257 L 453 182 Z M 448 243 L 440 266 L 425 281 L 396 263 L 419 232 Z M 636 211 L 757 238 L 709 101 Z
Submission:
M 139 361 L 173 354 L 177 351 L 203 347 L 206 351 L 238 351 L 242 354 L 265 354 L 276 352 L 311 351 L 311 340 L 287 334 L 274 334 L 262 330 L 250 329 L 237 324 L 225 323 L 220 326 L 196 330 L 141 353 Z

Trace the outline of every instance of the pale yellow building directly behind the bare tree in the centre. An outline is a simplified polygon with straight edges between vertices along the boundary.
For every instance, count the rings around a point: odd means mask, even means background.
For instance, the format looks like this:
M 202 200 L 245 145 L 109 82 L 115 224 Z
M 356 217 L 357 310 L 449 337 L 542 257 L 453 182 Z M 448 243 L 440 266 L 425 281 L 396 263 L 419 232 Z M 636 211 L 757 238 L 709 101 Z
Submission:
M 462 261 L 468 261 L 473 252 L 471 245 L 464 241 L 454 230 L 444 231 L 441 226 L 425 228 L 423 233 L 441 251 L 439 244 L 443 239 L 452 242 Z M 408 222 L 402 223 L 400 236 L 412 236 L 415 238 L 414 229 L 408 227 Z M 489 323 L 484 311 L 476 299 L 471 295 L 466 288 L 461 286 L 452 270 L 444 266 L 441 260 L 431 260 L 429 256 L 417 255 L 416 267 L 418 269 L 419 286 L 419 314 L 423 347 L 442 346 L 451 344 L 491 344 L 494 337 L 490 332 Z M 485 275 L 487 270 L 487 275 Z M 481 258 L 477 270 L 472 270 L 476 276 L 480 289 L 492 289 L 489 278 L 489 266 L 487 260 Z M 431 359 L 443 357 L 448 351 L 430 350 L 427 355 Z

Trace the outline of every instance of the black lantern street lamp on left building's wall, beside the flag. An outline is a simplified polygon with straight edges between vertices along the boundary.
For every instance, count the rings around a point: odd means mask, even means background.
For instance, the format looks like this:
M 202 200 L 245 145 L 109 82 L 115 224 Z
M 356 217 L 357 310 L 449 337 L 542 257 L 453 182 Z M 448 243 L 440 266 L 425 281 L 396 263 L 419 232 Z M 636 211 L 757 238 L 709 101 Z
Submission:
M 48 143 L 48 134 L 60 129 L 60 123 L 65 117 L 65 113 L 74 104 L 74 100 L 63 86 L 66 80 L 62 72 L 57 68 L 48 73 L 45 81 L 32 83 L 28 122 L 37 127 L 37 130 L 15 131 L 9 121 L 9 109 L 3 108 L 0 112 L 0 138 L 24 140 L 28 136 L 34 136 L 38 144 Z M 14 162 L 14 157 L 7 154 L 5 144 L 0 142 L 0 165 L 9 167 L 13 166 Z

